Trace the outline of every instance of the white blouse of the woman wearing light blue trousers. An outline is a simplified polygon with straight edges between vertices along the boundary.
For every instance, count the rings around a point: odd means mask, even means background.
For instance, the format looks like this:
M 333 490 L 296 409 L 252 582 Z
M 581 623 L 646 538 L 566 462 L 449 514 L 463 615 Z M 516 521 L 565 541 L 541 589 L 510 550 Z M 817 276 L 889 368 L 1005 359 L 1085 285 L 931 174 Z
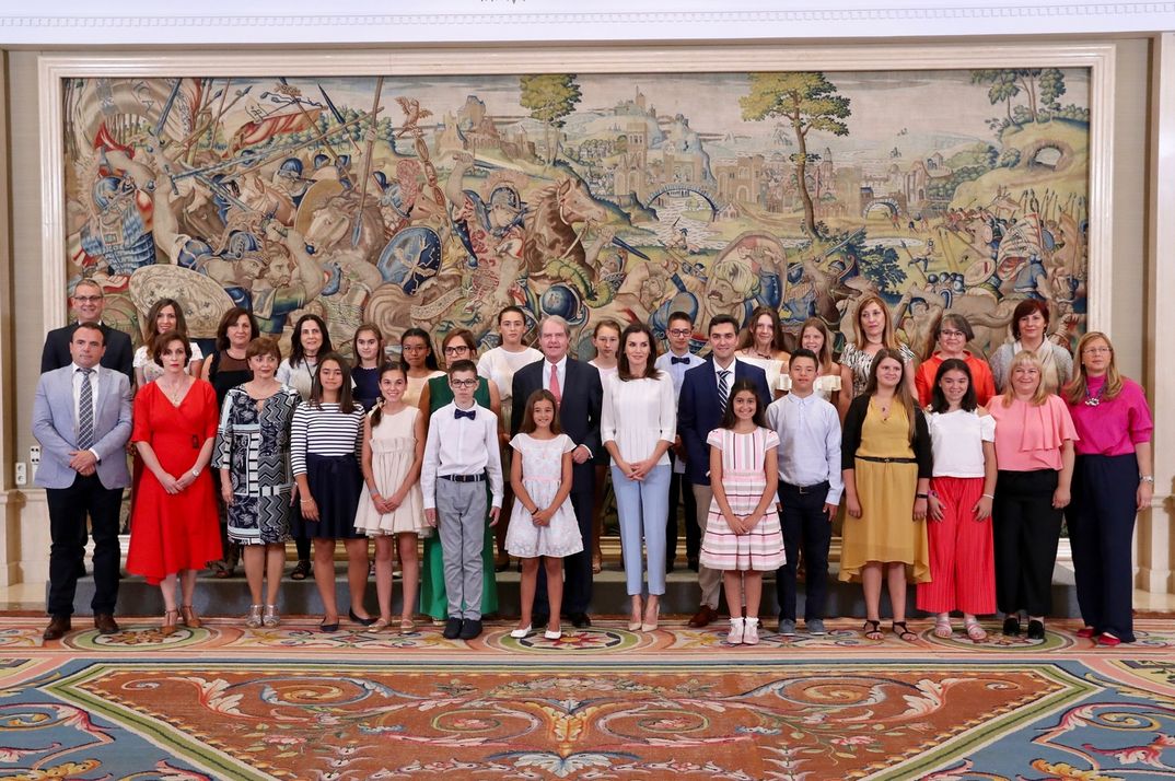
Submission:
M 677 402 L 669 372 L 660 372 L 657 379 L 622 381 L 617 376 L 604 383 L 599 436 L 605 443 L 615 442 L 626 462 L 649 458 L 658 442 L 672 444 L 677 436 Z M 669 464 L 667 450 L 657 464 Z

